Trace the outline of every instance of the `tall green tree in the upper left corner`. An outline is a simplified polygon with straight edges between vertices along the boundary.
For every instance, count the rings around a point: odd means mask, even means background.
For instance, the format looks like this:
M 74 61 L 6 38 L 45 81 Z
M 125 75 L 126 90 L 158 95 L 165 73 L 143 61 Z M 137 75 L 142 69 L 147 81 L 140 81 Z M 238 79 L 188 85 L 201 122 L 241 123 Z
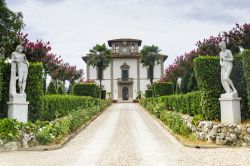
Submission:
M 0 49 L 7 58 L 21 42 L 18 34 L 24 27 L 23 15 L 11 11 L 5 0 L 0 0 L 0 11 Z

